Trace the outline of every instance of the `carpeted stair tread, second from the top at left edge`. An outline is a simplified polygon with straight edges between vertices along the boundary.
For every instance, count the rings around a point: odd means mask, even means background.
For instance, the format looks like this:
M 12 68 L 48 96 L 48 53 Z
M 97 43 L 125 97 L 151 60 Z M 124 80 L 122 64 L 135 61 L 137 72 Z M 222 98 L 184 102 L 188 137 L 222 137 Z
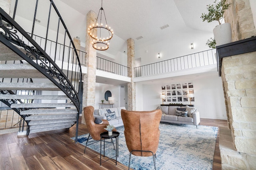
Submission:
M 41 72 L 28 63 L 0 64 L 1 78 L 46 78 Z

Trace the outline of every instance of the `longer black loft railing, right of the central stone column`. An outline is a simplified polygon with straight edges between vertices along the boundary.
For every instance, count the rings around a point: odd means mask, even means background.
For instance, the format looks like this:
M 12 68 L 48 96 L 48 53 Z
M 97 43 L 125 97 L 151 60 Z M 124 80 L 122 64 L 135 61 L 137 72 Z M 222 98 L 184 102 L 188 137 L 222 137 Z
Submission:
M 135 77 L 151 76 L 189 68 L 216 64 L 215 49 L 184 55 L 157 63 L 147 64 L 134 68 Z

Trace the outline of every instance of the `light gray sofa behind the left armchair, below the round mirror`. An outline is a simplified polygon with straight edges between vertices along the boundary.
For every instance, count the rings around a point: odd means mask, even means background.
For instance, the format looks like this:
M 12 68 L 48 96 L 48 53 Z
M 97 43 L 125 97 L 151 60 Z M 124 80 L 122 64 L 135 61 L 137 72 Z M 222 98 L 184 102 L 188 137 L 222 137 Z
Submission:
M 108 120 L 110 125 L 114 125 L 114 127 L 124 125 L 122 117 L 121 117 L 121 109 L 125 109 L 125 107 L 104 108 L 100 111 L 100 113 L 102 113 L 102 111 L 104 111 L 106 113 L 106 109 L 110 109 L 111 112 L 114 111 L 116 113 L 116 118 L 115 119 Z M 94 110 L 94 117 L 98 117 L 100 119 L 106 119 L 107 120 L 106 115 L 100 115 L 99 110 L 100 109 L 95 109 Z

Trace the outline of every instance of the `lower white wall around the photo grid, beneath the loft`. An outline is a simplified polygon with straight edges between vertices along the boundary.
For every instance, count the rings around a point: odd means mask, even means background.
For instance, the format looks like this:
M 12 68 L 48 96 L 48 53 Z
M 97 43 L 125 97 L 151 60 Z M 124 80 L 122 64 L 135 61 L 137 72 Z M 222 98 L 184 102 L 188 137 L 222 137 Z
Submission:
M 170 84 L 186 83 L 186 81 L 172 81 L 173 80 L 170 80 Z M 192 80 L 190 82 L 193 82 L 194 84 L 195 102 L 192 102 L 192 104 L 197 107 L 198 111 L 200 112 L 200 117 L 208 119 L 227 119 L 221 78 L 215 76 L 207 79 Z M 156 109 L 157 106 L 160 106 L 160 104 L 162 104 L 162 100 L 160 99 L 162 86 L 166 86 L 166 83 L 150 85 L 143 84 L 142 92 L 137 91 L 136 89 L 136 97 L 143 96 L 143 108 L 140 108 L 140 110 L 153 110 Z M 169 103 L 172 102 L 164 102 L 164 104 Z M 182 102 L 182 104 L 190 104 L 190 102 Z

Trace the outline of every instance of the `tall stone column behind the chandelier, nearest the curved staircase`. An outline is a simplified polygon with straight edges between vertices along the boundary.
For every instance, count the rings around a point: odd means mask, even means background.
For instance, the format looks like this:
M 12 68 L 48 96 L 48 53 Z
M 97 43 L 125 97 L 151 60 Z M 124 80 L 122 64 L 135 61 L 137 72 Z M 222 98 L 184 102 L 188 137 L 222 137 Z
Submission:
M 92 10 L 87 13 L 86 21 L 86 47 L 87 53 L 85 59 L 85 66 L 87 67 L 87 74 L 84 75 L 84 93 L 83 93 L 83 108 L 85 106 L 95 107 L 95 89 L 96 89 L 96 49 L 92 47 L 92 39 L 88 34 L 88 27 L 96 22 L 96 13 Z M 94 31 L 95 35 L 97 32 Z M 82 123 L 85 124 L 84 112 L 82 112 Z

